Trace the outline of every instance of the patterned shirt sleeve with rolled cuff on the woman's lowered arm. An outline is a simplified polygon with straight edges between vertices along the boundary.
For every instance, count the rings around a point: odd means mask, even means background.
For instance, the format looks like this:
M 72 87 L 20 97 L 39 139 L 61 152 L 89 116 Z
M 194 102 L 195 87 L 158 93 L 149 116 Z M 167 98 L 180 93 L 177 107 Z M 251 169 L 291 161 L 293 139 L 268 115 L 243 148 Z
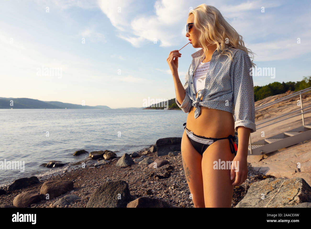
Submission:
M 237 52 L 233 61 L 233 105 L 234 130 L 245 126 L 256 131 L 253 76 L 250 74 L 252 62 L 247 53 Z

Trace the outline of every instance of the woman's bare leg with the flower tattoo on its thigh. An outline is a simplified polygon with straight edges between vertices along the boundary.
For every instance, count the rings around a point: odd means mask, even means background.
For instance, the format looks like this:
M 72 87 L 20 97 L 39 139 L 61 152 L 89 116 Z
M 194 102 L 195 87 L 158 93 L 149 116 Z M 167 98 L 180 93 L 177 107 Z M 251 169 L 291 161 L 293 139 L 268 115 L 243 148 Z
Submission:
M 181 156 L 194 207 L 205 208 L 201 168 L 202 155 L 193 148 L 186 130 L 183 131 L 181 139 Z

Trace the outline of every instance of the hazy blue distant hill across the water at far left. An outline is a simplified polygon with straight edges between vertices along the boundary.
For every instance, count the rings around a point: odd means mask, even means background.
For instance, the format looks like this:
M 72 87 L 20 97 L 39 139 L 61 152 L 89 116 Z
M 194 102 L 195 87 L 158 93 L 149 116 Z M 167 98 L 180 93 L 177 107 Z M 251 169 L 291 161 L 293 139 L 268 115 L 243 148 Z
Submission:
M 13 106 L 10 106 L 13 100 Z M 107 106 L 82 106 L 79 104 L 62 103 L 57 101 L 41 101 L 31 98 L 0 97 L 0 109 L 111 109 Z

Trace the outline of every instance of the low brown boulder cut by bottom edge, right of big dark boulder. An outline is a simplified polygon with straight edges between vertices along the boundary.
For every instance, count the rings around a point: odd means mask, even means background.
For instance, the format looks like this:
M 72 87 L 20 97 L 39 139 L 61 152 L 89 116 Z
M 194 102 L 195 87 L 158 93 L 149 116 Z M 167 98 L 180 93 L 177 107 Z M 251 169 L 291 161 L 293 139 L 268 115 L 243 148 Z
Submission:
M 139 197 L 128 203 L 127 208 L 175 208 L 175 207 L 160 199 Z

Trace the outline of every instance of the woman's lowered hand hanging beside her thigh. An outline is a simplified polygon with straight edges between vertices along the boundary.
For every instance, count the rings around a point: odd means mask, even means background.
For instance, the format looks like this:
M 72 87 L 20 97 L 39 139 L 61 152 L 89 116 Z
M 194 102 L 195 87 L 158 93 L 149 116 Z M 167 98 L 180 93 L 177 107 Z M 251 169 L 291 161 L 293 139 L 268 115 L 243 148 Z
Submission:
M 247 179 L 247 158 L 241 156 L 241 154 L 237 153 L 234 157 L 232 164 L 231 164 L 231 171 L 230 171 L 230 179 L 234 179 L 234 173 L 236 173 L 235 180 L 232 185 L 239 186 L 243 184 L 243 182 Z

